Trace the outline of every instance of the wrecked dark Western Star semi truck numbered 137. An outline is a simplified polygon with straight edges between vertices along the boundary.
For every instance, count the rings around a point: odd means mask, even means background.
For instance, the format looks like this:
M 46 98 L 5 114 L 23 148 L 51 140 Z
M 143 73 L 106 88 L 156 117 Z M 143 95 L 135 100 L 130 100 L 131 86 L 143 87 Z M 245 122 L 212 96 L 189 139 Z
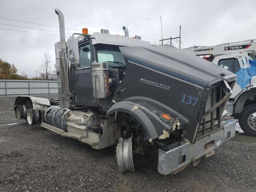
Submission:
M 120 172 L 136 157 L 158 153 L 158 172 L 174 174 L 235 135 L 223 121 L 236 75 L 168 45 L 108 30 L 65 39 L 59 17 L 55 44 L 58 101 L 18 96 L 16 117 L 96 150 L 116 146 Z

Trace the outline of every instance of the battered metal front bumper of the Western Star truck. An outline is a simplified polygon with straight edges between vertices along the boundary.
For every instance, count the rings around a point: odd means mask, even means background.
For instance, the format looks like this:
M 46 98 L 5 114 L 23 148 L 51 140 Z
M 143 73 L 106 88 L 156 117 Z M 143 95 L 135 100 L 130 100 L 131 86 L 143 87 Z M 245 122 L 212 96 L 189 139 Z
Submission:
M 198 138 L 195 144 L 182 141 L 170 144 L 158 150 L 158 172 L 162 175 L 178 172 L 190 162 L 213 154 L 213 150 L 235 136 L 236 122 L 228 120 L 220 128 Z

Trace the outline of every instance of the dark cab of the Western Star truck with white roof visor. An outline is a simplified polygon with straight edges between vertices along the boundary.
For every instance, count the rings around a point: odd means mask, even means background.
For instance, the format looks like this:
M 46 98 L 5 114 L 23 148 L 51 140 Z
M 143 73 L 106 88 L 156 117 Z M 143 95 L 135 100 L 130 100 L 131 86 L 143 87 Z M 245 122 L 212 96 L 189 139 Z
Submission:
M 104 108 L 104 104 L 93 97 L 92 63 L 105 62 L 111 73 L 117 73 L 118 82 L 125 76 L 126 63 L 119 47 L 150 46 L 150 42 L 105 33 L 93 33 L 90 38 L 78 36 L 80 66 L 70 68 L 70 90 L 72 103 L 77 106 L 94 106 Z M 115 91 L 112 89 L 112 92 Z M 110 101 L 112 103 L 112 100 Z

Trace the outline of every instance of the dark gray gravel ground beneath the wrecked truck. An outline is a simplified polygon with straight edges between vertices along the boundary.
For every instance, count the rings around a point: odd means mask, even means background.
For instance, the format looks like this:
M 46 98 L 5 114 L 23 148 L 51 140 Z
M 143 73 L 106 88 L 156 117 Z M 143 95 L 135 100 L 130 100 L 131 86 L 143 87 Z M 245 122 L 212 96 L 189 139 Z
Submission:
M 256 191 L 255 143 L 229 141 L 173 176 L 157 172 L 157 157 L 136 173 L 120 174 L 115 147 L 94 150 L 28 126 L 15 118 L 14 99 L 0 97 L 0 192 Z

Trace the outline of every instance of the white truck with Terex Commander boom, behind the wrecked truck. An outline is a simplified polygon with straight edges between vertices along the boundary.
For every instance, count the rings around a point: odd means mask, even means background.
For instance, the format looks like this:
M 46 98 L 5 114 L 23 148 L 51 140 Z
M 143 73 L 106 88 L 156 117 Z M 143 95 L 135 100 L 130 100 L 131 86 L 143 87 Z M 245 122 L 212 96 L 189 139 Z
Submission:
M 214 64 L 217 64 L 233 73 L 241 68 L 250 67 L 249 60 L 256 60 L 256 40 L 225 43 L 217 46 L 194 46 L 183 49 Z M 243 78 L 238 74 L 238 78 Z M 256 136 L 256 76 L 241 86 L 236 81 L 233 93 L 229 98 L 227 108 L 228 115 L 238 119 L 242 130 L 250 135 Z

